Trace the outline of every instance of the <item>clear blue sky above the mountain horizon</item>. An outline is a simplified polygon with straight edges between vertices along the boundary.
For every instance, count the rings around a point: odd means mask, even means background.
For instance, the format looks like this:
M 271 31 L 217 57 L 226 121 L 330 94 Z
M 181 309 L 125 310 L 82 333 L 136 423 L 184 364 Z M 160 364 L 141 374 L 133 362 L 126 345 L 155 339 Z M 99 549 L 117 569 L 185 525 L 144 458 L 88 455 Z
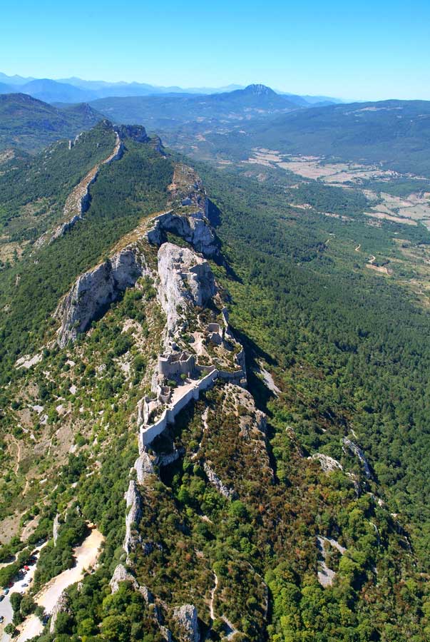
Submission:
M 430 2 L 5 0 L 0 71 L 430 99 Z

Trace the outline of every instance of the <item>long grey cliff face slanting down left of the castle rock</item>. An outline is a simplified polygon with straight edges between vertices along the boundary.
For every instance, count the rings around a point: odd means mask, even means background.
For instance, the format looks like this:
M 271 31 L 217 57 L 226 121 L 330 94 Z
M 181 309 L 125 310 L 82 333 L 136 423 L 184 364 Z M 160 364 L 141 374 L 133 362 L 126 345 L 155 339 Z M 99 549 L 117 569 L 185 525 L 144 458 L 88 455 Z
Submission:
M 143 274 L 149 274 L 145 259 L 136 248 L 128 247 L 78 277 L 56 310 L 61 318 L 61 347 L 85 332 L 91 321 Z

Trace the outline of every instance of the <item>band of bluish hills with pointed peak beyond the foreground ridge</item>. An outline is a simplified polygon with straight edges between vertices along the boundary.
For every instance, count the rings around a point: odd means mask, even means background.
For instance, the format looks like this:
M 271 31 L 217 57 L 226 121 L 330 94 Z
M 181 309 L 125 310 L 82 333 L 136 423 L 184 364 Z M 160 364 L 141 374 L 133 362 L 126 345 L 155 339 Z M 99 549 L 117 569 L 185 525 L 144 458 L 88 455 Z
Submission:
M 117 96 L 70 105 L 8 93 L 0 95 L 0 150 L 34 153 L 108 118 L 143 124 L 168 145 L 198 151 L 202 158 L 247 158 L 262 147 L 430 175 L 430 101 L 306 108 L 294 99 L 264 85 L 206 96 Z

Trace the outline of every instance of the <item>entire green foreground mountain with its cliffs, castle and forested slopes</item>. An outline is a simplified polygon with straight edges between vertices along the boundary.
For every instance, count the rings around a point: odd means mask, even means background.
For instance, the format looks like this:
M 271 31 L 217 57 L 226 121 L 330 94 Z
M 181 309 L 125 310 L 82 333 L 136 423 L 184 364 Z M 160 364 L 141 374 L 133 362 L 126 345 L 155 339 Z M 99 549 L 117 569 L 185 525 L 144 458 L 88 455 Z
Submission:
M 108 121 L 1 167 L 8 631 L 426 641 L 421 221 Z

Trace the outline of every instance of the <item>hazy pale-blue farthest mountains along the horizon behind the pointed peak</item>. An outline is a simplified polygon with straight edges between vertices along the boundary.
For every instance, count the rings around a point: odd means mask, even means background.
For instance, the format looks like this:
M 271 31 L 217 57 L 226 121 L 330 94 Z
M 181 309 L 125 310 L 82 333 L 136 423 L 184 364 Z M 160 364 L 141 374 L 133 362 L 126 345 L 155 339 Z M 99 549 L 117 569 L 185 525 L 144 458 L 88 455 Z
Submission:
M 24 78 L 23 76 L 6 76 L 0 72 L 0 93 L 11 93 L 14 91 L 28 93 L 34 98 L 39 98 L 47 103 L 78 103 L 94 101 L 97 98 L 111 96 L 157 96 L 165 94 L 205 94 L 227 93 L 243 89 L 241 85 L 227 85 L 225 87 L 192 87 L 181 88 L 178 86 L 158 87 L 147 83 L 108 83 L 106 81 L 86 81 L 82 78 Z M 289 96 L 290 100 L 302 106 L 313 105 L 314 103 L 337 103 L 337 98 L 327 96 L 296 96 L 295 94 L 281 95 Z

